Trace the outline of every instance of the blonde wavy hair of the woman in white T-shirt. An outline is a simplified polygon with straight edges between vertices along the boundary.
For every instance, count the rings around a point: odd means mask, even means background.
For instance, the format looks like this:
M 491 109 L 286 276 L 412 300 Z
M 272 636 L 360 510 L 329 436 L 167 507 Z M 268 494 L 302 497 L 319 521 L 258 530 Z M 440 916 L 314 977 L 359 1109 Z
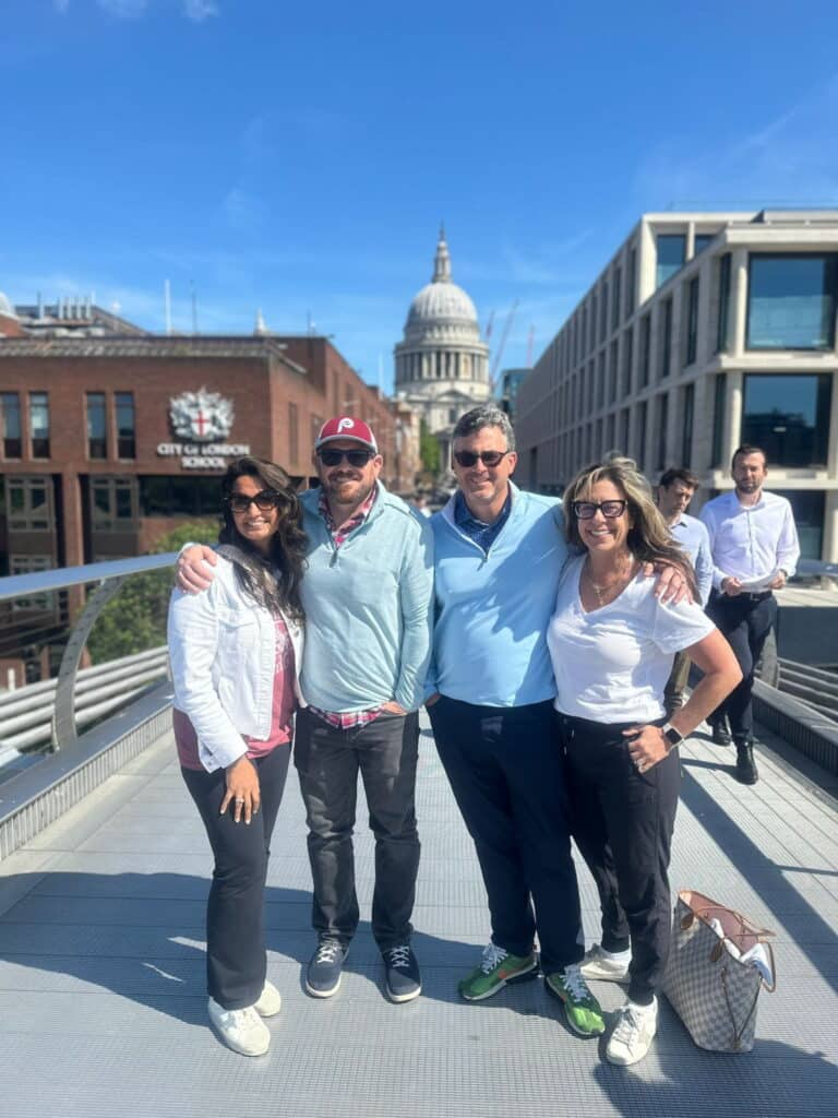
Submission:
M 585 466 L 577 474 L 562 494 L 564 530 L 568 542 L 584 548 L 579 533 L 579 521 L 573 513 L 574 501 L 590 501 L 598 482 L 611 482 L 622 493 L 628 506 L 629 531 L 626 546 L 639 562 L 678 567 L 689 593 L 698 600 L 695 572 L 689 558 L 673 542 L 669 527 L 660 515 L 651 494 L 651 486 L 632 458 L 607 458 Z

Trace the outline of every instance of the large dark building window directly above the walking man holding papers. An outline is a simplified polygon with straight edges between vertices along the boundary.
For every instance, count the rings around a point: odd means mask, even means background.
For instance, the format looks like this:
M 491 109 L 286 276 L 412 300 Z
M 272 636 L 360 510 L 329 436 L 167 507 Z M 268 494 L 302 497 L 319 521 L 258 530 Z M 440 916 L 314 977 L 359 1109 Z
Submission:
M 761 447 L 769 466 L 826 465 L 831 373 L 747 373 L 743 380 L 740 442 Z

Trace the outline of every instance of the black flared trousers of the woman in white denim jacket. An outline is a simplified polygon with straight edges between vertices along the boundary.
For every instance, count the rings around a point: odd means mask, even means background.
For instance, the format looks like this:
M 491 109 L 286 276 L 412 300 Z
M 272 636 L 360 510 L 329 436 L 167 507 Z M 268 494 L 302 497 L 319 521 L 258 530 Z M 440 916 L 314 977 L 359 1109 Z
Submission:
M 232 804 L 219 814 L 227 787 L 222 768 L 181 768 L 216 860 L 207 902 L 207 987 L 225 1010 L 253 1005 L 265 986 L 265 878 L 289 758 L 291 746 L 277 746 L 254 761 L 261 807 L 249 826 L 234 823 Z

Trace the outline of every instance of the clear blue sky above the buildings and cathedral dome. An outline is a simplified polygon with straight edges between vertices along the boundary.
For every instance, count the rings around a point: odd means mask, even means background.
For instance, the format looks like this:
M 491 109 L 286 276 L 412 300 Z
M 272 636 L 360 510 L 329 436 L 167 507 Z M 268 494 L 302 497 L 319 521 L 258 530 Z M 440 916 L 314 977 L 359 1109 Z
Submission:
M 0 290 L 316 329 L 377 382 L 430 278 L 535 354 L 644 210 L 838 205 L 838 4 L 7 0 Z

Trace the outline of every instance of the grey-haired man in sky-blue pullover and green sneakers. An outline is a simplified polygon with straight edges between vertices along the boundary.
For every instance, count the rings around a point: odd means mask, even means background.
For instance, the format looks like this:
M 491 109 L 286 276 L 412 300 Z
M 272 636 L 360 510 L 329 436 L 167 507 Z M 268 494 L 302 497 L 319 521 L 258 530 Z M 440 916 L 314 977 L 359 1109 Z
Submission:
M 431 518 L 436 624 L 426 688 L 442 765 L 477 847 L 492 939 L 459 984 L 466 1001 L 535 975 L 582 1036 L 604 1031 L 584 955 L 555 682 L 546 645 L 566 558 L 554 498 L 517 489 L 514 433 L 482 405 L 454 429 L 459 487 Z

